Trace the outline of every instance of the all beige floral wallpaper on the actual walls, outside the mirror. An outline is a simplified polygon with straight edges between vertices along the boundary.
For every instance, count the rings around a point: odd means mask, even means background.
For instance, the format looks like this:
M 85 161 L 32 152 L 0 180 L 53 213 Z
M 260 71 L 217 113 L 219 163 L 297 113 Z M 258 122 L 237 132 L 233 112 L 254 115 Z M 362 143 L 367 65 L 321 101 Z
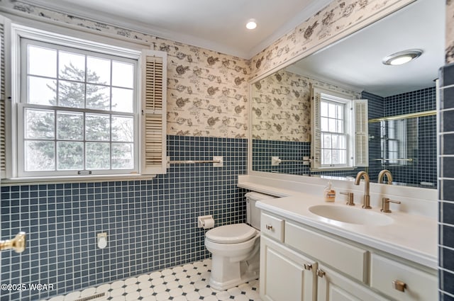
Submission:
M 252 59 L 223 55 L 115 25 L 39 8 L 16 0 L 0 0 L 1 6 L 52 23 L 65 23 L 94 33 L 120 36 L 132 42 L 167 51 L 167 134 L 204 137 L 247 137 L 248 81 L 270 72 L 315 47 L 343 38 L 414 0 L 334 0 L 290 33 Z M 447 0 L 446 60 L 454 61 L 453 0 Z M 450 46 L 448 46 L 450 45 Z M 301 138 L 303 139 L 303 138 Z

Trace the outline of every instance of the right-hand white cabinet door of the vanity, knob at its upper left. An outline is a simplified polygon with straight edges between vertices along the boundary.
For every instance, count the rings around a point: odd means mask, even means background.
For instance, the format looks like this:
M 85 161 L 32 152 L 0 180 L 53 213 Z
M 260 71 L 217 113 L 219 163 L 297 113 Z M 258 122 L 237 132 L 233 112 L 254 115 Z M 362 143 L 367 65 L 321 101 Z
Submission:
M 325 266 L 316 273 L 317 301 L 389 301 Z

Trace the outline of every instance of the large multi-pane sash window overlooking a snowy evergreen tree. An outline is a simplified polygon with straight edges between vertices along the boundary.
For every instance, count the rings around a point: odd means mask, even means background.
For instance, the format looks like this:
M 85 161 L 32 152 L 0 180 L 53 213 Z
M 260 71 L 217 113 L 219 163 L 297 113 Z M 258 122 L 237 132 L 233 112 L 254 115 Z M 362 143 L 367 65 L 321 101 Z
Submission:
M 137 170 L 137 59 L 21 39 L 19 176 Z

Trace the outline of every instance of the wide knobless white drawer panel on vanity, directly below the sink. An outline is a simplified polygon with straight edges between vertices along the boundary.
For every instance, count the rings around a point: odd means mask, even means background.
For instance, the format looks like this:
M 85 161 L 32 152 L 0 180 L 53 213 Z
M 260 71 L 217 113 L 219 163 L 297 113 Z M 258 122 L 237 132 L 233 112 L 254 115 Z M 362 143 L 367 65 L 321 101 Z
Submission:
M 285 243 L 364 283 L 369 252 L 286 222 Z

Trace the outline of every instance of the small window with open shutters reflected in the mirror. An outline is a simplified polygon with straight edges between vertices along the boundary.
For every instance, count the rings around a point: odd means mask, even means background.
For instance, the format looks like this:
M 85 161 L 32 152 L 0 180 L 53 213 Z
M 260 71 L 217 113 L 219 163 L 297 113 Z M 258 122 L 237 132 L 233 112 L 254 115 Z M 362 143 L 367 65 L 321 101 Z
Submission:
M 314 88 L 311 169 L 368 165 L 367 100 Z

